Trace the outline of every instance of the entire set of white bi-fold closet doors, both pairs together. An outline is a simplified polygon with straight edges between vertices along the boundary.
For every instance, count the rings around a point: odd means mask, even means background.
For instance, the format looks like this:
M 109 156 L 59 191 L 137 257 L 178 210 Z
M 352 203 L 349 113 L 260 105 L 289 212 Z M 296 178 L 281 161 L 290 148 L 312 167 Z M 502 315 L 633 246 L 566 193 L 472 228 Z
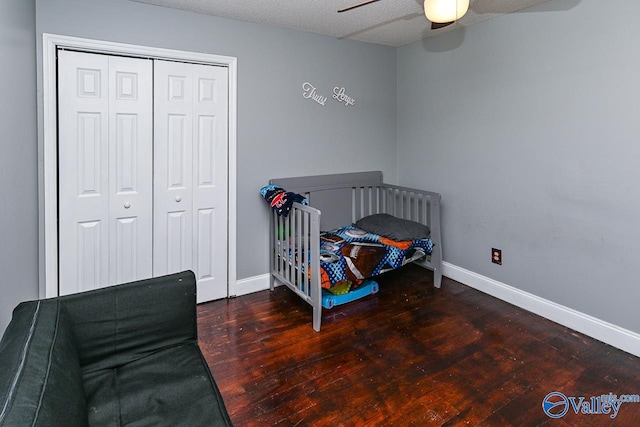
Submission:
M 227 295 L 224 67 L 58 52 L 61 295 L 185 269 Z

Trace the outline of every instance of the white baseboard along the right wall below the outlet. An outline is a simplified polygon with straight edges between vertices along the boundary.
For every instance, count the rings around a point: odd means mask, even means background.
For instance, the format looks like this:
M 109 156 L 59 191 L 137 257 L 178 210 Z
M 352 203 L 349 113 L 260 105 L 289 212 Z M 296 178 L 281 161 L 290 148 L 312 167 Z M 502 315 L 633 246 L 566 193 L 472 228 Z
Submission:
M 471 288 L 640 357 L 640 334 L 448 262 L 442 263 L 442 274 Z

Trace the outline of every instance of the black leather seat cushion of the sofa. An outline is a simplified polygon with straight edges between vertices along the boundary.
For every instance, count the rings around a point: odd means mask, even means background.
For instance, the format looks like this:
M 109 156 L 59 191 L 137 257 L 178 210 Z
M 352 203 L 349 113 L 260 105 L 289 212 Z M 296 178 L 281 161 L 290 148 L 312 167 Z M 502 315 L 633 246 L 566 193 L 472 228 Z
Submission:
M 91 425 L 230 426 L 196 344 L 166 348 L 117 369 L 85 373 Z

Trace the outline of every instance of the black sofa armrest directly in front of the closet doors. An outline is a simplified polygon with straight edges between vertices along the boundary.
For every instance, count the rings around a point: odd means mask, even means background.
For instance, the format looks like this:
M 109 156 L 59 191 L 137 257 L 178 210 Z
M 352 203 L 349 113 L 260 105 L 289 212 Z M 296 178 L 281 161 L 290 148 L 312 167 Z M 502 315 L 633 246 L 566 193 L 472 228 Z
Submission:
M 83 372 L 118 368 L 163 348 L 197 342 L 191 271 L 60 300 L 70 314 Z

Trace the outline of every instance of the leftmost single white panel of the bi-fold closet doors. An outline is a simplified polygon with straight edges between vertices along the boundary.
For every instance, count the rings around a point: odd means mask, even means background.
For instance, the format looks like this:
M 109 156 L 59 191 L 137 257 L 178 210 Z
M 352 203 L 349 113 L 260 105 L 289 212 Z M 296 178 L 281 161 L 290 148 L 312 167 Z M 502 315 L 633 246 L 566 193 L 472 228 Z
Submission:
M 58 52 L 60 293 L 109 283 L 109 61 Z

